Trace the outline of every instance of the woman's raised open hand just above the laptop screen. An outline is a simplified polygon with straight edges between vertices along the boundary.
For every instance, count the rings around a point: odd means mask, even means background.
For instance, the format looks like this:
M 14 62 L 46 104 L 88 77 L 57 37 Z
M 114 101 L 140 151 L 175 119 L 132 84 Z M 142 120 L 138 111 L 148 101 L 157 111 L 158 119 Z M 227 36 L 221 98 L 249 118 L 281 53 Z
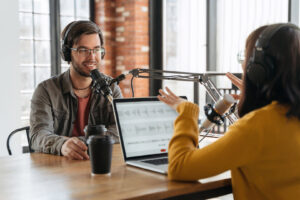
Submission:
M 164 102 L 165 104 L 169 105 L 171 108 L 176 110 L 177 106 L 181 103 L 186 101 L 185 99 L 182 99 L 178 96 L 176 96 L 168 87 L 166 87 L 166 92 L 164 92 L 162 89 L 159 90 L 160 95 L 157 96 L 157 98 Z

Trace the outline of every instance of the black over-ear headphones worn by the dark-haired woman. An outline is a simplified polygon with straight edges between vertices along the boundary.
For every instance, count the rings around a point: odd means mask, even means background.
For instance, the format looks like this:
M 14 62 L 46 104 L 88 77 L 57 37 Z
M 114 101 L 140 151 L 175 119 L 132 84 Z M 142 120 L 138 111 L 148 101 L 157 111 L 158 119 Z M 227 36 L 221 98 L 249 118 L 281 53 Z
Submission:
M 266 53 L 266 50 L 269 48 L 273 36 L 282 28 L 298 29 L 297 26 L 290 23 L 270 25 L 263 30 L 256 40 L 253 54 L 247 63 L 246 73 L 249 80 L 257 87 L 261 87 L 274 75 L 274 60 L 272 55 Z

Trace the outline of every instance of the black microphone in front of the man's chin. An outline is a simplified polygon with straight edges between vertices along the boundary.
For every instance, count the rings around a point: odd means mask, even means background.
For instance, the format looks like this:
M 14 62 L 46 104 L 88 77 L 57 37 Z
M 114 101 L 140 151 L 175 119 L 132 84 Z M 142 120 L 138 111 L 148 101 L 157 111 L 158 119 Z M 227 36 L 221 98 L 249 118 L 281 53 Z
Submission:
M 99 72 L 98 69 L 93 69 L 90 72 L 90 76 L 93 80 L 92 88 L 94 88 L 97 94 L 102 94 L 105 96 L 110 103 L 112 103 L 112 91 L 109 87 L 108 82 L 110 79 L 106 77 L 103 73 Z

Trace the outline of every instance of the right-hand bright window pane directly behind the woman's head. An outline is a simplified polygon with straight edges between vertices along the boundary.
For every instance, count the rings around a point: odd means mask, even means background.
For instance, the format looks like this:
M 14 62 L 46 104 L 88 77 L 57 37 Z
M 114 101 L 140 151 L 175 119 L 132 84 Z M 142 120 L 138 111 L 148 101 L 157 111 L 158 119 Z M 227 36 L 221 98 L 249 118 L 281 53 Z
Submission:
M 259 26 L 288 22 L 288 0 L 217 1 L 217 71 L 242 72 L 237 53 Z

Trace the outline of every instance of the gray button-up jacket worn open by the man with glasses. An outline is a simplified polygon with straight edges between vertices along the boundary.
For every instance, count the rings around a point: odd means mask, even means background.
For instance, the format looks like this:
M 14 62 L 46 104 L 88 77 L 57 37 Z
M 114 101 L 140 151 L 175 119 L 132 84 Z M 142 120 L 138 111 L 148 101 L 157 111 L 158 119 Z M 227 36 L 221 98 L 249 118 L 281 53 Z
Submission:
M 122 98 L 119 86 L 114 84 L 111 89 L 113 98 Z M 40 83 L 31 100 L 31 148 L 36 152 L 61 155 L 63 143 L 72 136 L 77 108 L 70 70 Z M 118 141 L 112 106 L 101 94 L 92 92 L 88 123 L 104 124 Z M 84 137 L 80 139 L 85 140 Z

